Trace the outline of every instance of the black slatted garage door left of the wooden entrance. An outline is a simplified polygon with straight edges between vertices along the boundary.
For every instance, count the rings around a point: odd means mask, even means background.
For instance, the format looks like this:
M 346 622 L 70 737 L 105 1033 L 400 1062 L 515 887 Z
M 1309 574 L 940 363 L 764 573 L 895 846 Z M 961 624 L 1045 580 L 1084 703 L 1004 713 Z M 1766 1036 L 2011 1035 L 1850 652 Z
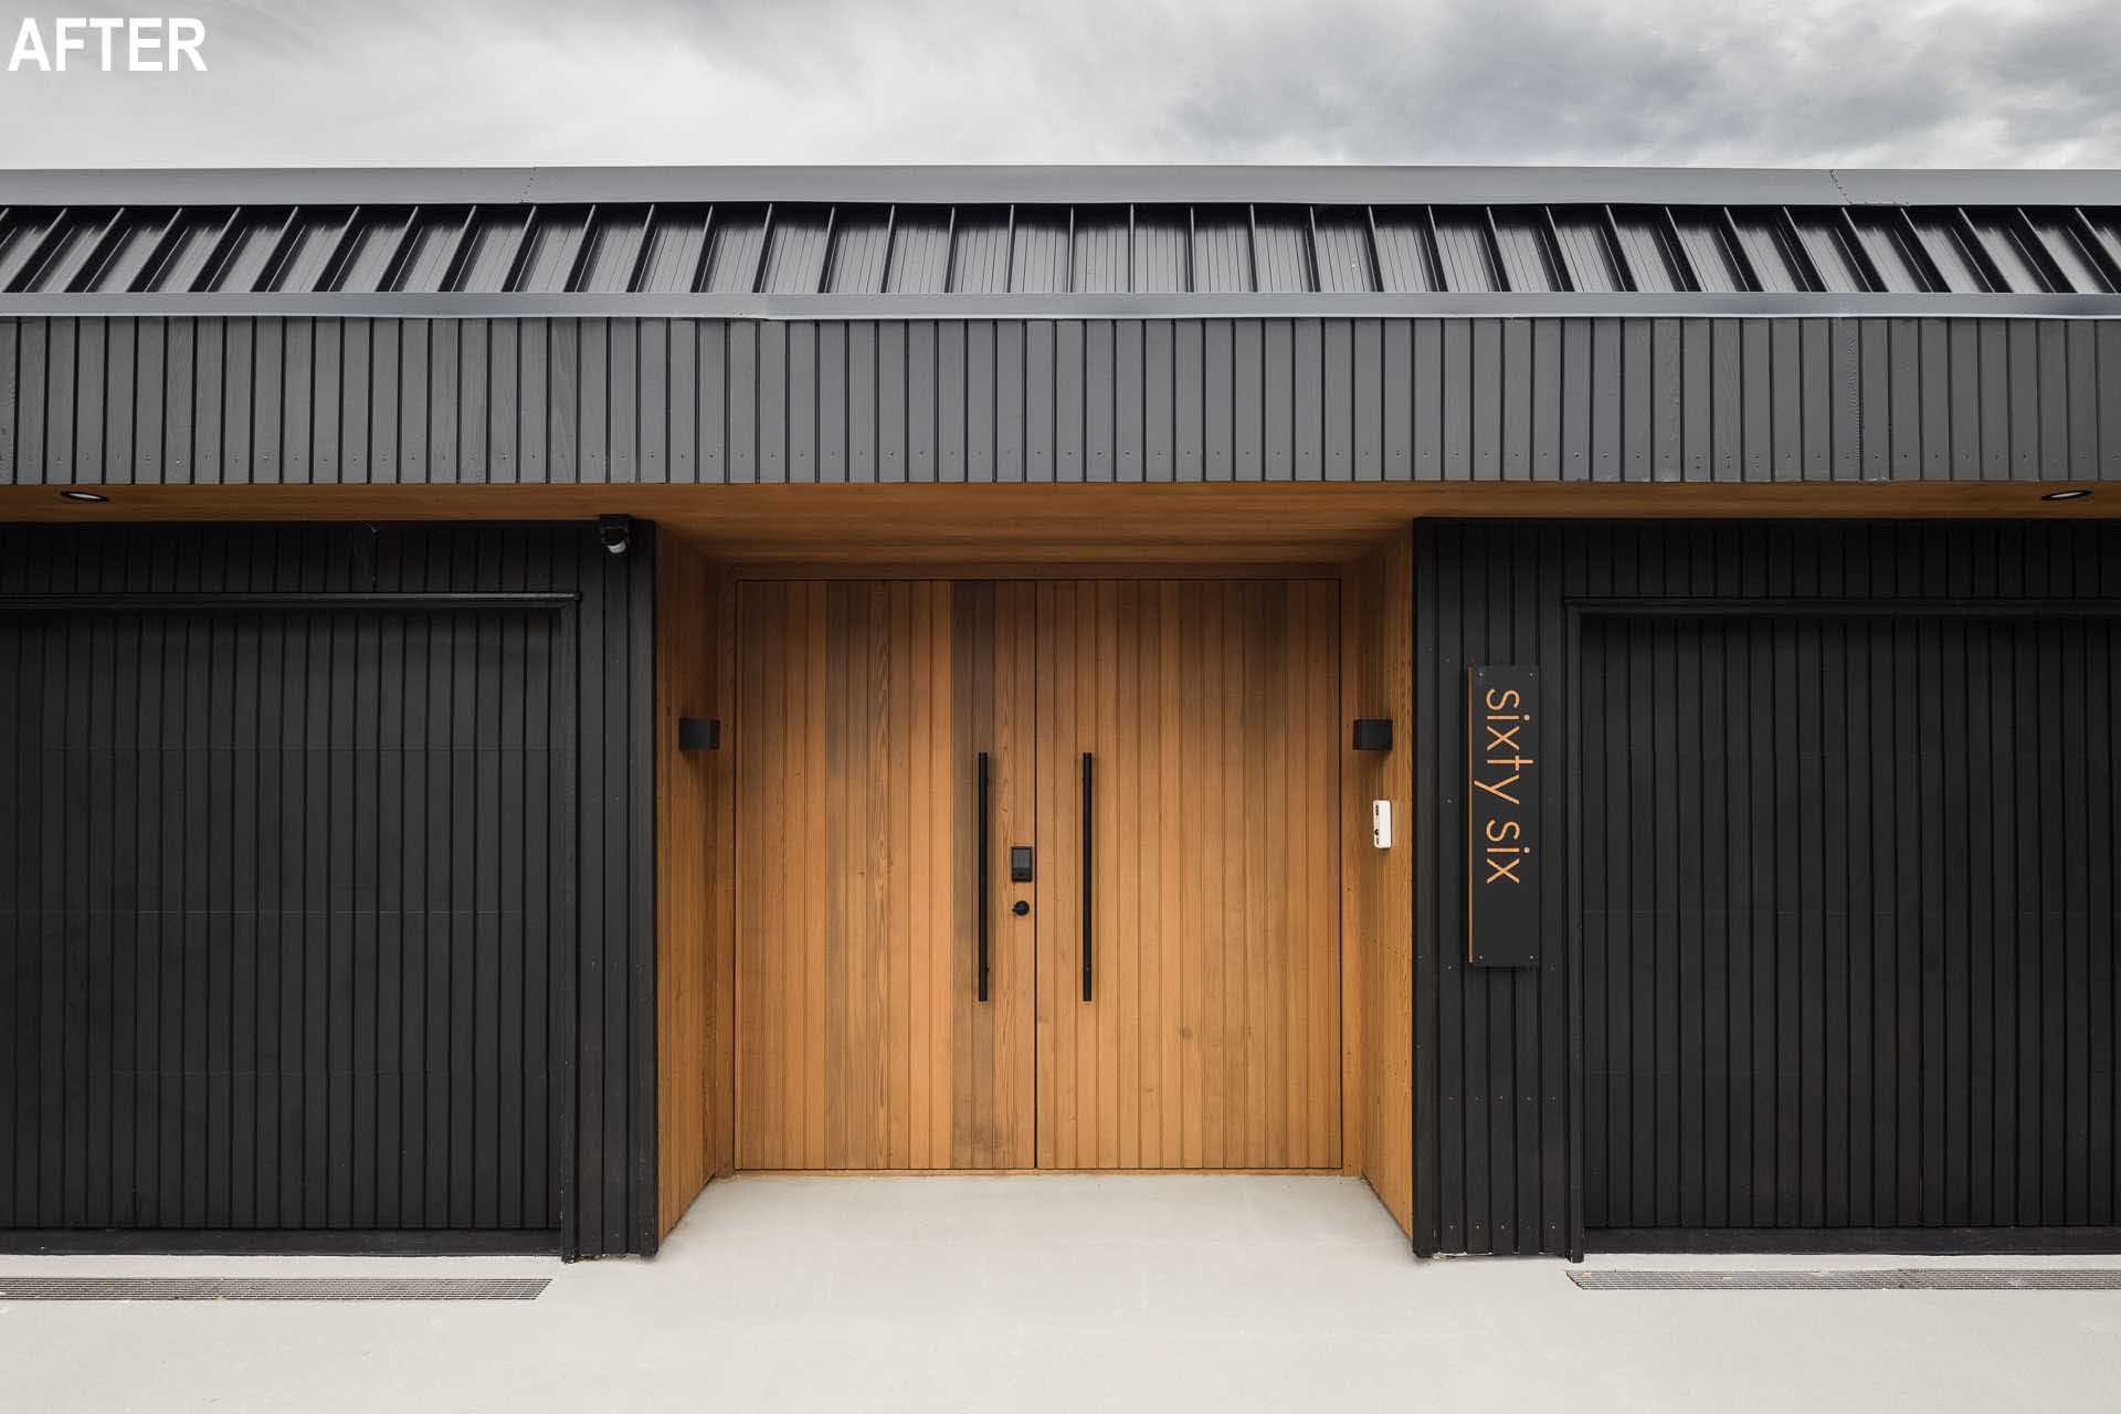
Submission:
M 0 619 L 0 1227 L 556 1227 L 554 638 Z

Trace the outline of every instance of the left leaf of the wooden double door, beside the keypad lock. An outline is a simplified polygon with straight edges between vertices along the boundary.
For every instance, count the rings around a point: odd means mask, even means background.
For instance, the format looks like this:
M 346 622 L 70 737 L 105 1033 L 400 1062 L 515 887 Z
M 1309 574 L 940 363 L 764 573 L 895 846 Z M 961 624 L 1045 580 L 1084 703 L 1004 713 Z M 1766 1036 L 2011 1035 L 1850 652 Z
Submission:
M 1029 835 L 1031 589 L 747 583 L 738 613 L 738 1164 L 1029 1166 L 1033 954 L 1001 859 Z

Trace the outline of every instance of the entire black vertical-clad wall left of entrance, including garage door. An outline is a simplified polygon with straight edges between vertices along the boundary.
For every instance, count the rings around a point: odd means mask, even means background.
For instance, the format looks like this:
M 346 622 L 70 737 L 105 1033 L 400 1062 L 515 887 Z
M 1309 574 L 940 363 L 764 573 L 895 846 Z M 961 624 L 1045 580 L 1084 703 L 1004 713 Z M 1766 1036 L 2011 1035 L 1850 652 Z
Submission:
M 651 1249 L 651 555 L 0 530 L 0 1240 Z

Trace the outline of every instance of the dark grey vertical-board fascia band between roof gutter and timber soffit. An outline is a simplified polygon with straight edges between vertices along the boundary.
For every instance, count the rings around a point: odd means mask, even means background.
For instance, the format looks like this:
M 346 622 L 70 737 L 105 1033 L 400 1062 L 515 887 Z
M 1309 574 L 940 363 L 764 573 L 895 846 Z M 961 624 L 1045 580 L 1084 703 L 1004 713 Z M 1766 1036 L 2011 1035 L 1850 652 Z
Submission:
M 0 320 L 0 485 L 2108 481 L 2098 320 Z

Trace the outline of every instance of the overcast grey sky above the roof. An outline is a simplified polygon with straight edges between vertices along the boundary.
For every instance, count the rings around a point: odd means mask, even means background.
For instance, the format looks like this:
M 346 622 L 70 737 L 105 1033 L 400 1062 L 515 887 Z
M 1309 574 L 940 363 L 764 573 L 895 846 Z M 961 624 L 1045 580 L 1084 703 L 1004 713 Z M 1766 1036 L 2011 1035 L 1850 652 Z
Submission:
M 0 165 L 2121 165 L 2117 0 L 100 0 L 0 32 L 127 8 L 201 17 L 210 72 L 0 72 Z

